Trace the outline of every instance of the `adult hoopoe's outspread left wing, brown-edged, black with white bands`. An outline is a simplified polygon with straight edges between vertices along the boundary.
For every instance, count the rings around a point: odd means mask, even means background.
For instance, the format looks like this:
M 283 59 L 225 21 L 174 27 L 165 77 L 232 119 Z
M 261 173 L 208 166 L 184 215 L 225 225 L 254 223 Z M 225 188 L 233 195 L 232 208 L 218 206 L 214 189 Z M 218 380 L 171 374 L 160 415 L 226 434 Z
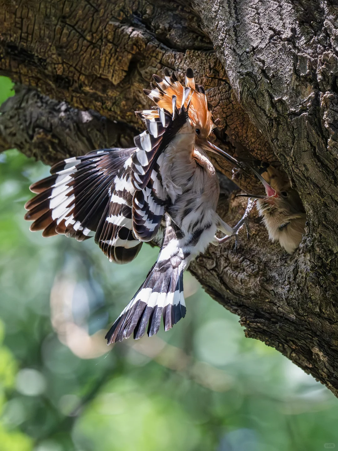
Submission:
M 95 235 L 111 261 L 125 263 L 135 258 L 142 244 L 134 237 L 119 239 L 126 236 L 127 227 L 132 235 L 133 152 L 135 148 L 97 150 L 53 166 L 50 177 L 30 187 L 37 193 L 25 205 L 25 219 L 34 221 L 30 230 L 43 230 L 46 237 L 64 234 L 79 241 Z M 107 229 L 106 223 L 113 227 Z

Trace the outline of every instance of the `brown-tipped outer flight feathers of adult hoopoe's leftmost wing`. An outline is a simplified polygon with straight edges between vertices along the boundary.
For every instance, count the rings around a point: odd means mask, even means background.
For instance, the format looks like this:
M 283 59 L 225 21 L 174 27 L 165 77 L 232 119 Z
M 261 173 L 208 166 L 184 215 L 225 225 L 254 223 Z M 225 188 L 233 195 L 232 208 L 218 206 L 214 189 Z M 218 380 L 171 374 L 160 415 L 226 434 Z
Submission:
M 50 177 L 30 186 L 38 195 L 28 201 L 25 219 L 42 236 L 64 234 L 79 241 L 93 236 L 108 202 L 114 174 L 111 151 L 98 150 L 54 165 Z

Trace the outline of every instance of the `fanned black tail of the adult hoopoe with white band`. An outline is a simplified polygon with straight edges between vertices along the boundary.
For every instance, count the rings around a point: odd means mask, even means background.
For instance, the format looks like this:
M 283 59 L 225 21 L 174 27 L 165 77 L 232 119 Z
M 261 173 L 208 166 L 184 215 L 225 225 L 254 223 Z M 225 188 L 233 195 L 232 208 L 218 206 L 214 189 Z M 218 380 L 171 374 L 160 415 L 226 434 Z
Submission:
M 165 331 L 184 318 L 183 272 L 186 267 L 187 259 L 178 246 L 176 234 L 167 225 L 159 257 L 146 281 L 105 336 L 108 344 L 132 334 L 135 339 L 141 338 L 146 331 L 148 336 L 155 335 L 162 317 Z

